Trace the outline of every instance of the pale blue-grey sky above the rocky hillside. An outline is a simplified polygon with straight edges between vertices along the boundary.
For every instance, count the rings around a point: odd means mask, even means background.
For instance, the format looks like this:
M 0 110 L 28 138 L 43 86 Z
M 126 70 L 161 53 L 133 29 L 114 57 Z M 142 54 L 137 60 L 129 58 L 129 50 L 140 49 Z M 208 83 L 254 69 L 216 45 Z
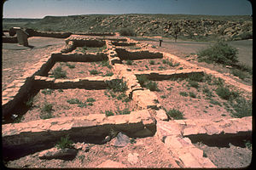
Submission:
M 3 18 L 76 14 L 251 15 L 247 0 L 8 0 Z

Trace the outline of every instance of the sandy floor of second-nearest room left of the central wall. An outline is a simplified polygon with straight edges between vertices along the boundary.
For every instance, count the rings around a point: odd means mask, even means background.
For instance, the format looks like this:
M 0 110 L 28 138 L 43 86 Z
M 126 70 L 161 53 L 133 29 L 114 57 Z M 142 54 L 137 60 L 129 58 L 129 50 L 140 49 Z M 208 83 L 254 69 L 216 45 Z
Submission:
M 70 68 L 68 65 L 74 66 L 74 68 Z M 49 77 L 53 74 L 53 71 L 58 66 L 61 66 L 62 71 L 67 72 L 67 79 L 105 76 L 107 73 L 112 72 L 112 70 L 107 66 L 102 66 L 101 62 L 56 62 L 52 69 L 49 71 Z M 90 71 L 92 70 L 96 70 L 98 74 L 90 74 Z

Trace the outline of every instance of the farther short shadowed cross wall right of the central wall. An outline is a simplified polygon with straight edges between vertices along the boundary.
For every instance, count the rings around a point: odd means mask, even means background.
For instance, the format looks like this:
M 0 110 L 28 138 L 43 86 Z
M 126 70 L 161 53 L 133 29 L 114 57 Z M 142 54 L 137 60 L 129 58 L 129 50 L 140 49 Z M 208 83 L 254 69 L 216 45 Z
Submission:
M 116 48 L 120 59 L 161 59 L 163 54 L 154 51 L 126 50 L 125 48 Z

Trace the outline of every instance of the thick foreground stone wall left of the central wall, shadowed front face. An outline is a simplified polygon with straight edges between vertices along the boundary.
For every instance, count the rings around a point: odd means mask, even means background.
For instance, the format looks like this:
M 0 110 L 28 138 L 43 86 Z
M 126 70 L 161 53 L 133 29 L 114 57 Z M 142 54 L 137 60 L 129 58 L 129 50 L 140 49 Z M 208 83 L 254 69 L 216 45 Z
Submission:
M 67 134 L 76 142 L 90 142 L 88 140 L 94 137 L 103 140 L 110 135 L 111 129 L 129 137 L 142 138 L 154 135 L 155 121 L 147 110 L 143 110 L 132 111 L 130 115 L 92 114 L 5 124 L 2 127 L 3 153 L 11 156 L 14 155 L 12 151 L 51 148 Z

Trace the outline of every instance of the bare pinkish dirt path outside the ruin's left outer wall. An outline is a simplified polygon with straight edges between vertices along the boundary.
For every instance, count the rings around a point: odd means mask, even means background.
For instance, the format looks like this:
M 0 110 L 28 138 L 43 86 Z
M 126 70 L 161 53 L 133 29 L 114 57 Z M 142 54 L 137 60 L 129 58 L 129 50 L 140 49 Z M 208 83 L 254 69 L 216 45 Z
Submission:
M 44 55 L 50 54 L 65 45 L 64 39 L 50 37 L 31 37 L 26 48 L 14 43 L 3 43 L 2 50 L 2 91 L 16 78 L 21 77 L 24 68 L 37 63 Z

